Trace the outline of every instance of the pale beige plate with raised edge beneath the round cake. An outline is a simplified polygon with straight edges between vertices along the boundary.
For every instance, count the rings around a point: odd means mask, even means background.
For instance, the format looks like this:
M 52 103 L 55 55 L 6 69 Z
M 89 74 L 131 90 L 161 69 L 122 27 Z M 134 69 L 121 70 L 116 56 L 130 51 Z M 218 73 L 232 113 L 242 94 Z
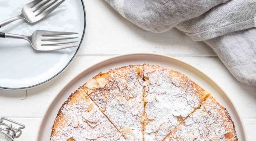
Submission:
M 243 130 L 243 124 L 241 122 L 241 119 L 239 118 L 239 115 L 234 105 L 227 97 L 225 92 L 223 92 L 223 90 L 215 82 L 213 82 L 209 77 L 207 77 L 205 74 L 203 74 L 196 68 L 177 59 L 163 55 L 144 53 L 122 55 L 113 57 L 111 59 L 107 59 L 86 69 L 77 77 L 75 77 L 60 91 L 55 100 L 51 103 L 40 125 L 37 141 L 49 141 L 51 134 L 51 126 L 53 125 L 58 110 L 60 109 L 61 105 L 65 102 L 65 100 L 70 96 L 70 94 L 77 90 L 79 86 L 83 85 L 85 82 L 93 78 L 99 72 L 107 72 L 110 68 L 113 69 L 126 66 L 128 64 L 143 63 L 159 64 L 167 68 L 173 68 L 174 70 L 177 70 L 187 75 L 197 84 L 202 86 L 202 88 L 210 92 L 221 105 L 227 108 L 236 126 L 235 129 L 237 131 L 238 140 L 246 141 L 245 132 Z

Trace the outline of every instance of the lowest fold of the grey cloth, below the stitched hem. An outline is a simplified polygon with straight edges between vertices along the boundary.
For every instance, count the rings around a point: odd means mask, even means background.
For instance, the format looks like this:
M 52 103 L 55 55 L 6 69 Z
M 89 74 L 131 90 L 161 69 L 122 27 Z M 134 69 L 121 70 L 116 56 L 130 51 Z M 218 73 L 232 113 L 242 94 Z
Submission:
M 239 81 L 256 85 L 256 28 L 205 41 Z

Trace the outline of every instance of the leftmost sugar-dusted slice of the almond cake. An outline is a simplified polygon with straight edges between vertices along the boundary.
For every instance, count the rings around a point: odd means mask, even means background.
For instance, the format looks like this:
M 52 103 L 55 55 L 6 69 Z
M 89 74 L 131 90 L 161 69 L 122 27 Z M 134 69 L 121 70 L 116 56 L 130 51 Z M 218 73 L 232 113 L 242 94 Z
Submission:
M 50 141 L 125 141 L 82 89 L 60 108 Z

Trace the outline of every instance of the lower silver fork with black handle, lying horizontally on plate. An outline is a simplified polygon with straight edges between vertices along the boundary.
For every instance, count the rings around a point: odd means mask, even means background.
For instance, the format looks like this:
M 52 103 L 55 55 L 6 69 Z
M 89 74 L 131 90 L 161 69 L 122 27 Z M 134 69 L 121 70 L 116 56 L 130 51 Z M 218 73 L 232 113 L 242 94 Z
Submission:
M 74 32 L 59 32 L 59 31 L 46 31 L 36 30 L 31 36 L 22 36 L 17 34 L 9 34 L 0 32 L 0 38 L 17 38 L 24 39 L 30 42 L 31 46 L 35 50 L 39 51 L 53 51 L 64 48 L 77 47 L 72 43 L 78 42 L 71 39 L 78 37 L 72 37 L 67 35 L 78 34 Z

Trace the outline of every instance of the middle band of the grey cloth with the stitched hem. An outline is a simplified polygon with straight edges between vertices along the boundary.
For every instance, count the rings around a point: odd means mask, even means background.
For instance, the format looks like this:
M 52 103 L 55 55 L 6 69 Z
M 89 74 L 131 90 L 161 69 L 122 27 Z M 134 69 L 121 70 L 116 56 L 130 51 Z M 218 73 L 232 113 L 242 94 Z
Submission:
M 205 14 L 177 25 L 194 41 L 203 41 L 233 31 L 256 27 L 256 0 L 231 0 Z M 255 39 L 256 40 L 256 39 Z

